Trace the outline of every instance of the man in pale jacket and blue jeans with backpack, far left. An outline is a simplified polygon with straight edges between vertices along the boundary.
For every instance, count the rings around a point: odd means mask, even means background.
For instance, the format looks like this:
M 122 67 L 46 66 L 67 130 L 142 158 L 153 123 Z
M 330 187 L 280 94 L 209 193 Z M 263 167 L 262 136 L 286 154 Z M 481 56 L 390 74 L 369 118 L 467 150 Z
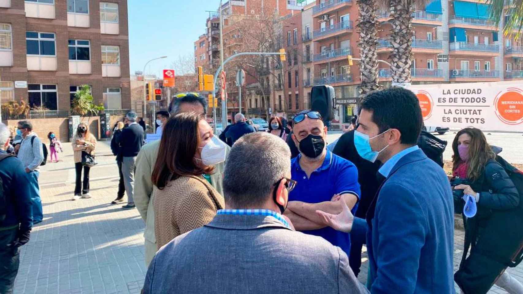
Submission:
M 32 124 L 28 121 L 18 122 L 16 134 L 23 138 L 17 156 L 26 169 L 29 193 L 31 194 L 33 224 L 36 225 L 43 219 L 42 200 L 40 199 L 40 187 L 38 185 L 40 163 L 43 161 L 42 141 L 33 133 Z

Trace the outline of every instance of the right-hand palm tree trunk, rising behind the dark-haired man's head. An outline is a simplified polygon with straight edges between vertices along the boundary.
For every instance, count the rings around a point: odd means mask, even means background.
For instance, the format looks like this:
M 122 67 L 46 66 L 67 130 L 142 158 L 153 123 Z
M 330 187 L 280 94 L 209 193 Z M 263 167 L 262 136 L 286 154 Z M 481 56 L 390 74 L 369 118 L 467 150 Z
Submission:
M 411 83 L 412 0 L 390 0 L 392 32 L 392 84 Z

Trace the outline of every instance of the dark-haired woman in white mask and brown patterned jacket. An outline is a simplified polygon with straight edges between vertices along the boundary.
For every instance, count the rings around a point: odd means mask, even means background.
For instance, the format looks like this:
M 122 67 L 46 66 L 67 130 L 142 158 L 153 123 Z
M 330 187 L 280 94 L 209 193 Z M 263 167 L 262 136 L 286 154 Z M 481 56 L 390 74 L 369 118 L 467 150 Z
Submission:
M 208 224 L 224 207 L 209 175 L 214 164 L 225 160 L 225 152 L 205 117 L 189 112 L 167 121 L 152 173 L 157 249 Z

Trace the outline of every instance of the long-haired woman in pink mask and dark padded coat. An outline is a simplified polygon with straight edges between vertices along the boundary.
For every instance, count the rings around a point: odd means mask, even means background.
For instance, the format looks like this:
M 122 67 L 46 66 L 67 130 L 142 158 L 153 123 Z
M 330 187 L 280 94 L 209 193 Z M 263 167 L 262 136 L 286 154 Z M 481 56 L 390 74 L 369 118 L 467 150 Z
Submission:
M 475 214 L 464 217 L 465 249 L 454 279 L 466 294 L 486 293 L 493 284 L 509 293 L 523 293 L 519 281 L 505 271 L 523 237 L 519 193 L 481 130 L 458 132 L 452 150 L 454 211 L 476 207 Z

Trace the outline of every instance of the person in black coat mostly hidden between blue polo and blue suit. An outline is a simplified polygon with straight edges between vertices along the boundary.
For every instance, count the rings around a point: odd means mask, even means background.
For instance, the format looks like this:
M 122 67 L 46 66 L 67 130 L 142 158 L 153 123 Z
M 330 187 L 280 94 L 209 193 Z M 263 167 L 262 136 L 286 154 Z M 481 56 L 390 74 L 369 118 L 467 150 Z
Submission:
M 384 180 L 381 175 L 378 177 L 378 169 L 381 166 L 381 162 L 370 162 L 359 156 L 356 146 L 354 145 L 354 130 L 339 137 L 333 153 L 354 163 L 358 169 L 358 183 L 360 184 L 361 189 L 361 199 L 355 216 L 364 219 L 372 199 L 374 199 L 381 182 Z M 363 244 L 366 243 L 365 239 L 365 234 L 361 235 L 357 231 L 351 231 L 350 233 L 349 266 L 356 277 L 360 272 L 361 248 Z

